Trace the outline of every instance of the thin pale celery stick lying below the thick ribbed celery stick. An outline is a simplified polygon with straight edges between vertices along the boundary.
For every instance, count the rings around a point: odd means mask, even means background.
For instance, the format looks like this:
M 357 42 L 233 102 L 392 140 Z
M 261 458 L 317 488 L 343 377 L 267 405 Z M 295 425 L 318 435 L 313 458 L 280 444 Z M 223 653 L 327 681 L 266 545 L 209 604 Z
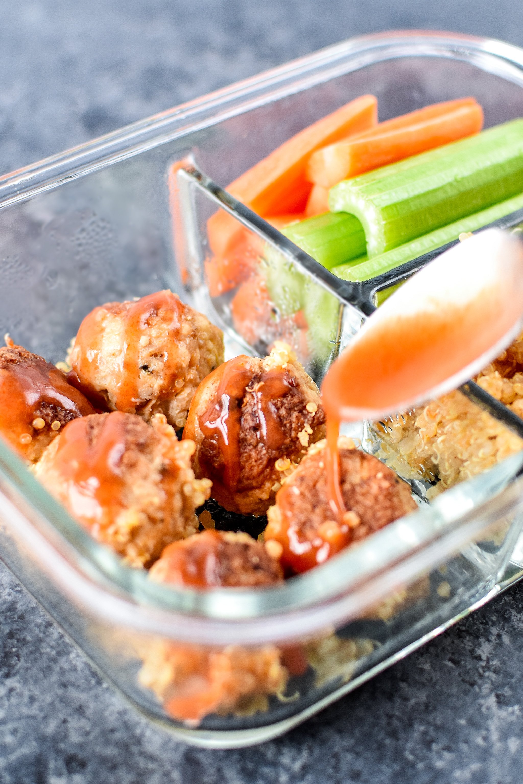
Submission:
M 377 275 L 394 270 L 400 264 L 423 256 L 423 253 L 428 253 L 440 248 L 441 245 L 446 245 L 447 242 L 456 240 L 463 232 L 481 229 L 482 226 L 510 215 L 510 212 L 516 212 L 518 209 L 523 209 L 523 193 L 487 209 L 482 209 L 480 212 L 475 212 L 474 215 L 469 215 L 462 220 L 449 223 L 448 226 L 431 231 L 430 234 L 400 245 L 399 248 L 394 248 L 381 256 L 374 256 L 373 259 L 361 263 L 342 264 L 340 267 L 334 267 L 332 272 L 339 278 L 343 278 L 344 281 L 369 281 L 376 278 Z

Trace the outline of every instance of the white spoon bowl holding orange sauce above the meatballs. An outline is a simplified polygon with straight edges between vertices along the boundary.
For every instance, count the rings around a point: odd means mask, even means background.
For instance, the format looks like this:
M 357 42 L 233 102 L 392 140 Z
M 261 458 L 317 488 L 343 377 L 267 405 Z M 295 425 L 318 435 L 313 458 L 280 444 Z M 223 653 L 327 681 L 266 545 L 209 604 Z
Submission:
M 356 421 L 414 408 L 475 376 L 523 328 L 523 242 L 487 229 L 412 275 L 329 368 L 328 416 Z

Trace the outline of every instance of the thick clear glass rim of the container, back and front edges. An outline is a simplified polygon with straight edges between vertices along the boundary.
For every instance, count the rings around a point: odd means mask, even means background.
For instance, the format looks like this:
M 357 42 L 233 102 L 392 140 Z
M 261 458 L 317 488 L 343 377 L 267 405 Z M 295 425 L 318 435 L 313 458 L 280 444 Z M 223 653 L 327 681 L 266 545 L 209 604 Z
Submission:
M 0 209 L 336 74 L 406 56 L 467 60 L 523 87 L 523 49 L 496 39 L 438 31 L 390 31 L 351 38 L 2 176 Z M 521 463 L 520 452 L 445 492 L 439 504 L 401 518 L 358 548 L 284 586 L 266 590 L 201 593 L 147 581 L 143 572 L 125 568 L 110 550 L 91 539 L 2 443 L 0 511 L 8 524 L 16 526 L 29 550 L 45 550 L 48 572 L 64 593 L 96 615 L 150 633 L 209 644 L 230 641 L 234 629 L 238 641 L 256 644 L 298 639 L 336 625 L 379 601 L 383 592 L 401 581 L 409 582 L 438 559 L 441 562 L 501 514 L 523 503 L 523 482 L 512 481 Z

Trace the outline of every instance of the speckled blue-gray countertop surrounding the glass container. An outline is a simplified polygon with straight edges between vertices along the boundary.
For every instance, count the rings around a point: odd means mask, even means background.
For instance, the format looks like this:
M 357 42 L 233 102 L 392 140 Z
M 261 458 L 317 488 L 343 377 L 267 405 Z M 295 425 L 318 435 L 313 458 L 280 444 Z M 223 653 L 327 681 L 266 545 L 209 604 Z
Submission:
M 519 0 L 0 0 L 0 173 L 354 34 L 523 44 Z M 523 586 L 300 728 L 183 746 L 0 567 L 0 784 L 523 781 Z

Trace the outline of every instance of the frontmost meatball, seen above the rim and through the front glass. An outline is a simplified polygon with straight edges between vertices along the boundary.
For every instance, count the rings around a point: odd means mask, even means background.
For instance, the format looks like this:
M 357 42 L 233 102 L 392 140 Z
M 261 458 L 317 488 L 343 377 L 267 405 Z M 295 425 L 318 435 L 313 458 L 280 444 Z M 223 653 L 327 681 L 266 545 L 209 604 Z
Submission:
M 256 539 L 210 530 L 166 547 L 149 574 L 156 583 L 191 588 L 271 586 L 282 580 L 278 561 Z M 209 713 L 267 710 L 268 695 L 285 688 L 288 658 L 274 645 L 211 648 L 158 640 L 143 655 L 139 680 L 166 713 L 196 724 Z

